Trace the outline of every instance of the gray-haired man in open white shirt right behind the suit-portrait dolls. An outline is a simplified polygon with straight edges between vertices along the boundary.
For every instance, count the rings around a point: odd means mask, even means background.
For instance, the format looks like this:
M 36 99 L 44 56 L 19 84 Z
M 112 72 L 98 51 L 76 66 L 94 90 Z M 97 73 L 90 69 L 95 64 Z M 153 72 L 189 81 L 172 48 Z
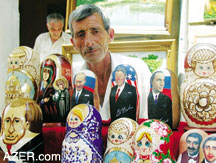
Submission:
M 140 108 L 142 108 L 139 115 L 140 118 L 147 118 L 150 71 L 147 65 L 139 59 L 109 52 L 109 43 L 114 40 L 114 29 L 110 28 L 109 18 L 102 13 L 99 7 L 83 5 L 71 13 L 69 27 L 72 44 L 85 60 L 83 64 L 73 64 L 73 72 L 76 74 L 80 70 L 89 69 L 96 74 L 103 122 L 110 122 L 111 75 L 119 64 L 129 64 L 135 68 L 138 76 L 138 90 L 140 91 Z

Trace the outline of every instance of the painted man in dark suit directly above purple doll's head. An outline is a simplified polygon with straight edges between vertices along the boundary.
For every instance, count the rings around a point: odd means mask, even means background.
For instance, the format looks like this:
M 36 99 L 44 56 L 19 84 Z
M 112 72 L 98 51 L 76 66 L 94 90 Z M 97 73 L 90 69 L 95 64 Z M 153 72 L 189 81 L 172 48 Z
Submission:
M 86 74 L 79 72 L 75 76 L 75 87 L 71 98 L 71 108 L 78 104 L 94 105 L 93 93 L 84 88 L 86 82 Z

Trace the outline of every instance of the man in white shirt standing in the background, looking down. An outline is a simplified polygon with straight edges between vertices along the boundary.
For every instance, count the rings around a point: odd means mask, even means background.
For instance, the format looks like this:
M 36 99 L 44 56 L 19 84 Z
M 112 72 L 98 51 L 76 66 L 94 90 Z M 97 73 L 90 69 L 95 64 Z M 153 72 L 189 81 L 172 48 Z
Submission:
M 48 32 L 40 34 L 34 45 L 34 50 L 40 54 L 40 60 L 53 53 L 62 53 L 62 44 L 70 44 L 71 36 L 64 33 L 64 17 L 59 13 L 47 16 Z

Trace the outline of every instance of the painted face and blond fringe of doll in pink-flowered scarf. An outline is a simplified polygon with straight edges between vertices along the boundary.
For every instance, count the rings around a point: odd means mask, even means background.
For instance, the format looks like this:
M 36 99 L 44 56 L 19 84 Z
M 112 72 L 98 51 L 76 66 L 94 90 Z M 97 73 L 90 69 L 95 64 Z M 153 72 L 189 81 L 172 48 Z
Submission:
M 141 155 L 148 156 L 153 151 L 152 139 L 148 133 L 144 133 L 141 139 L 138 139 L 135 143 L 136 151 L 139 151 Z

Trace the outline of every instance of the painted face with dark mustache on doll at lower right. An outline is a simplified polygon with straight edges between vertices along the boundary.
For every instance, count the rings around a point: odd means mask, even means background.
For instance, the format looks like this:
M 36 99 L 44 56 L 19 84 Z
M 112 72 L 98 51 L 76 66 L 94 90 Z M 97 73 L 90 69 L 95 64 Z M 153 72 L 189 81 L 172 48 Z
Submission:
M 186 140 L 187 152 L 190 156 L 194 156 L 199 152 L 199 139 L 194 137 L 188 137 Z

